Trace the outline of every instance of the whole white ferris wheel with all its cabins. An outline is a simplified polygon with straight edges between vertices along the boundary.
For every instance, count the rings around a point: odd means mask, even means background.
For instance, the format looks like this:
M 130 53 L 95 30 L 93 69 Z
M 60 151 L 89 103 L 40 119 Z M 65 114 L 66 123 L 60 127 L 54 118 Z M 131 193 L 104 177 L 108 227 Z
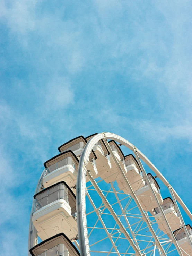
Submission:
M 58 150 L 36 187 L 28 256 L 192 256 L 192 228 L 181 214 L 192 221 L 191 212 L 128 140 L 104 132 Z

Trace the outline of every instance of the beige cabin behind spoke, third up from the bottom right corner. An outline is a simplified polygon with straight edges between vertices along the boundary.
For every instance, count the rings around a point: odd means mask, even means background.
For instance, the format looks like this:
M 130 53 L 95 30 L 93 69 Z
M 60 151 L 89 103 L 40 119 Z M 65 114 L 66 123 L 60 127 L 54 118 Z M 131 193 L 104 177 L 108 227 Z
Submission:
M 163 204 L 163 199 L 160 194 L 160 187 L 159 187 L 157 181 L 155 180 L 155 178 L 152 176 L 151 173 L 148 173 L 147 176 L 148 176 L 150 184 L 159 200 L 159 203 Z M 139 200 L 139 203 L 141 204 L 141 207 L 143 208 L 144 211 L 150 211 L 157 207 L 157 204 L 156 204 L 155 198 L 152 194 L 151 188 L 147 185 L 146 180 L 145 180 L 144 187 L 139 188 L 135 194 L 136 194 L 136 196 Z

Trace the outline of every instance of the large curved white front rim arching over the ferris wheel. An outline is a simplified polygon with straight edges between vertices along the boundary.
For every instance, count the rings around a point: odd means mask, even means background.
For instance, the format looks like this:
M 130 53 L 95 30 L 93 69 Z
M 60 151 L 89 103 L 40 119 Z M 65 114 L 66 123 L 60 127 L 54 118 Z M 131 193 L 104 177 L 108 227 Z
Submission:
M 119 135 L 103 132 L 96 134 L 93 136 L 85 145 L 80 161 L 79 161 L 79 167 L 78 167 L 78 173 L 77 173 L 77 223 L 78 223 L 78 235 L 79 235 L 79 246 L 80 251 L 82 255 L 89 256 L 90 250 L 89 250 L 89 240 L 88 240 L 88 233 L 87 233 L 87 223 L 86 223 L 86 206 L 85 206 L 85 187 L 86 187 L 86 165 L 89 161 L 89 155 L 91 151 L 93 150 L 93 147 L 95 144 L 101 140 L 101 139 L 112 139 L 115 140 L 122 145 L 128 147 L 130 150 L 136 150 L 138 157 L 141 158 L 150 168 L 152 171 L 155 172 L 156 175 L 162 180 L 165 186 L 171 187 L 169 182 L 164 178 L 164 176 L 159 172 L 159 170 L 153 165 L 150 160 L 140 151 L 138 150 L 132 143 L 130 143 L 128 140 L 122 138 Z M 90 175 L 89 175 L 90 176 Z M 172 187 L 171 187 L 172 188 Z M 177 199 L 177 201 L 180 203 L 184 211 L 187 213 L 187 215 L 192 220 L 192 214 L 186 207 L 186 205 L 183 203 L 182 199 L 178 196 L 176 191 L 172 188 L 172 192 Z M 169 227 L 170 229 L 170 227 Z M 171 230 L 171 229 L 170 229 Z M 177 245 L 177 242 L 176 242 Z M 178 245 L 177 245 L 178 246 Z M 178 248 L 177 248 L 178 251 Z M 181 250 L 179 248 L 179 254 L 182 255 Z M 136 253 L 137 255 L 137 253 Z M 166 255 L 166 254 L 165 254 Z

